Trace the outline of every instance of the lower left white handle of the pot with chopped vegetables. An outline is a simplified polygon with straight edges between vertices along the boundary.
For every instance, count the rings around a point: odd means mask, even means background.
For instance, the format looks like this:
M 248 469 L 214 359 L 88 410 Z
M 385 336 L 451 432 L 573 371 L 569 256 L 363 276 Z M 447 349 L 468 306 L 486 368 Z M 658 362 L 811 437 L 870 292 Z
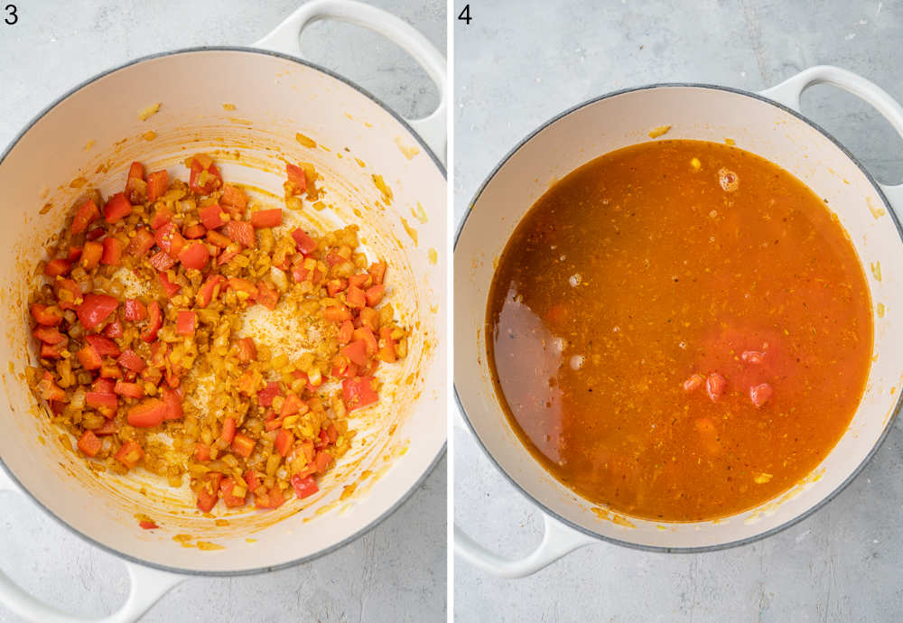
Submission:
M 3 468 L 0 468 L 0 491 L 14 491 L 23 495 Z M 187 576 L 151 569 L 141 564 L 126 563 L 130 588 L 126 603 L 107 617 L 73 617 L 50 604 L 38 600 L 23 590 L 12 578 L 0 572 L 0 604 L 28 621 L 41 623 L 132 623 L 176 584 Z

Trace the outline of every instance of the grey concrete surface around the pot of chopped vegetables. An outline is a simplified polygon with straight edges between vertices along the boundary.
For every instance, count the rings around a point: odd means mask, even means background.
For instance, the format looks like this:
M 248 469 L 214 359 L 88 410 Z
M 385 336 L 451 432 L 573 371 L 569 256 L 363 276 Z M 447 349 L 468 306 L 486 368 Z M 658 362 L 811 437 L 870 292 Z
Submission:
M 157 51 L 250 44 L 302 1 L 9 0 L 0 5 L 9 3 L 18 5 L 19 23 L 0 20 L 2 145 L 53 99 L 98 71 Z M 372 4 L 413 23 L 445 50 L 442 0 Z M 425 116 L 438 102 L 413 60 L 356 26 L 312 24 L 302 50 L 405 116 Z M 281 572 L 191 579 L 163 597 L 143 621 L 444 621 L 445 493 L 443 459 L 395 515 L 355 543 Z M 126 598 L 125 568 L 116 558 L 8 493 L 0 494 L 0 569 L 73 614 L 98 616 Z M 18 620 L 0 607 L 0 622 Z

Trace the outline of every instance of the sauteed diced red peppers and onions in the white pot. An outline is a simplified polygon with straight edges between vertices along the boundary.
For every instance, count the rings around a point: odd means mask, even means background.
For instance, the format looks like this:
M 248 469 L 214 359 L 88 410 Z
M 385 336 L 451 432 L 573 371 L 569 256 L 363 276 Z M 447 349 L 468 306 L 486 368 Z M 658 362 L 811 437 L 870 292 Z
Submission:
M 30 300 L 29 384 L 98 472 L 187 477 L 203 512 L 279 507 L 348 451 L 347 415 L 379 400 L 407 331 L 356 227 L 290 228 L 208 154 L 185 164 L 188 183 L 132 163 L 123 191 L 76 202 Z M 317 173 L 286 175 L 303 209 Z M 262 311 L 291 327 L 279 343 L 249 330 Z

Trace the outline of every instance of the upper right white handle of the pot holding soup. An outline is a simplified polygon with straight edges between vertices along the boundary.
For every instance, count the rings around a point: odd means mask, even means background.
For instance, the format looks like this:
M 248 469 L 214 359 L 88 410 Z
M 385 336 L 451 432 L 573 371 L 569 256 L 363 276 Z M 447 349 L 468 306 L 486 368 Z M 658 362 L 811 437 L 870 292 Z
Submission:
M 800 71 L 775 87 L 761 91 L 759 95 L 774 99 L 777 103 L 799 112 L 799 98 L 806 88 L 827 83 L 852 93 L 857 98 L 874 107 L 889 124 L 903 137 L 903 107 L 898 101 L 869 79 L 852 71 L 842 70 L 833 65 L 816 65 Z M 903 184 L 879 184 L 898 213 L 903 212 Z

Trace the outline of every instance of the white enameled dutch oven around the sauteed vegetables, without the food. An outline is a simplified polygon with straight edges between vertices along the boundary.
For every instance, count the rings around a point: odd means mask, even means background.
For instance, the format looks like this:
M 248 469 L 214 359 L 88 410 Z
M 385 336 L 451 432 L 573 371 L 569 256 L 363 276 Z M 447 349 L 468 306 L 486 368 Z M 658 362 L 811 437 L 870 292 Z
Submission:
M 347 80 L 299 60 L 301 31 L 323 18 L 366 26 L 408 51 L 439 88 L 439 108 L 406 121 Z M 157 102 L 159 112 L 140 120 L 139 112 Z M 8 409 L 0 489 L 33 497 L 62 525 L 125 559 L 129 596 L 102 620 L 134 620 L 191 574 L 265 572 L 347 544 L 401 505 L 439 460 L 446 437 L 447 238 L 445 172 L 435 154 L 444 152 L 445 109 L 444 60 L 423 35 L 374 7 L 327 0 L 303 5 L 254 47 L 173 51 L 90 79 L 37 116 L 3 155 L 0 358 Z M 317 146 L 299 143 L 296 133 Z M 187 487 L 168 488 L 143 470 L 123 478 L 93 475 L 86 461 L 62 448 L 61 432 L 23 382 L 34 362 L 25 305 L 32 275 L 79 186 L 87 181 L 104 195 L 119 191 L 133 160 L 186 179 L 182 160 L 197 152 L 213 154 L 227 180 L 272 191 L 260 196 L 275 207 L 284 161 L 313 163 L 329 208 L 286 214 L 320 231 L 357 223 L 368 252 L 386 257 L 392 301 L 414 328 L 408 356 L 380 370 L 386 384 L 380 403 L 356 412 L 351 426 L 358 436 L 323 477 L 321 493 L 269 512 L 215 509 L 228 525 L 192 509 Z M 391 201 L 374 175 L 391 189 Z M 138 513 L 161 529 L 141 530 Z M 180 534 L 191 536 L 189 545 L 221 549 L 183 547 L 173 540 Z M 75 620 L 3 574 L 0 603 L 28 619 Z

